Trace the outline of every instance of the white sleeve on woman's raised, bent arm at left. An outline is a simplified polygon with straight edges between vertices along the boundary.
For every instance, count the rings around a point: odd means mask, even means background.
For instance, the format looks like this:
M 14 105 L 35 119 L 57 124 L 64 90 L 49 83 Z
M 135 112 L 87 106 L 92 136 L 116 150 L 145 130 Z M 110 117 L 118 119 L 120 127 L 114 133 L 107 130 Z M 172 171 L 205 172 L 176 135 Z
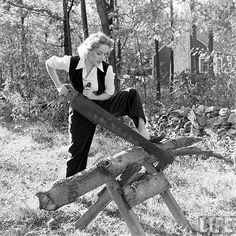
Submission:
M 46 61 L 46 64 L 56 70 L 65 70 L 69 72 L 70 58 L 71 56 L 67 55 L 63 57 L 52 56 Z

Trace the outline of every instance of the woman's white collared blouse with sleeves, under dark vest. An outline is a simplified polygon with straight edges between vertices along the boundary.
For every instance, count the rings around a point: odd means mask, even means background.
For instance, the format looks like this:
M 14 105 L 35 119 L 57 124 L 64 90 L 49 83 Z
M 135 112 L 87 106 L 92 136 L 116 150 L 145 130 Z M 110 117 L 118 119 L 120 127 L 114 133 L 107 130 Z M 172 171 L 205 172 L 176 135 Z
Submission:
M 70 68 L 70 58 L 71 56 L 63 56 L 63 57 L 58 57 L 58 56 L 52 56 L 47 60 L 47 64 L 56 69 L 56 70 L 65 70 L 69 72 Z M 103 70 L 103 64 L 99 64 L 97 67 L 94 66 L 92 70 L 90 71 L 89 74 L 87 74 L 87 70 L 85 67 L 85 60 L 80 59 L 79 63 L 76 67 L 76 70 L 83 69 L 83 85 L 84 87 L 88 82 L 91 83 L 91 89 L 92 91 L 98 91 L 98 80 L 97 80 L 97 70 L 100 69 L 101 71 Z M 113 73 L 112 66 L 109 65 L 107 68 L 107 73 L 105 76 L 105 93 L 108 95 L 113 95 L 115 92 L 115 85 L 114 85 L 114 79 L 115 79 L 115 74 Z

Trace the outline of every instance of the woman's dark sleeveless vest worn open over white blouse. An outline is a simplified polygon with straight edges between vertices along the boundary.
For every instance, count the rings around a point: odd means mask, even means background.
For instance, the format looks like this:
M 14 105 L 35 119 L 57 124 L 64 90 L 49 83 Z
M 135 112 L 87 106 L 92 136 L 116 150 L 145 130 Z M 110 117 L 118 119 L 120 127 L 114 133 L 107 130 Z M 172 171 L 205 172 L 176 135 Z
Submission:
M 70 69 L 69 69 L 69 76 L 70 76 L 70 83 L 74 89 L 78 92 L 83 92 L 83 76 L 82 76 L 82 69 L 77 69 L 76 67 L 79 63 L 80 57 L 79 56 L 72 56 L 70 59 Z M 103 64 L 103 71 L 97 69 L 97 78 L 98 78 L 98 91 L 96 92 L 97 95 L 104 93 L 105 87 L 105 76 L 107 73 L 108 64 L 102 62 Z

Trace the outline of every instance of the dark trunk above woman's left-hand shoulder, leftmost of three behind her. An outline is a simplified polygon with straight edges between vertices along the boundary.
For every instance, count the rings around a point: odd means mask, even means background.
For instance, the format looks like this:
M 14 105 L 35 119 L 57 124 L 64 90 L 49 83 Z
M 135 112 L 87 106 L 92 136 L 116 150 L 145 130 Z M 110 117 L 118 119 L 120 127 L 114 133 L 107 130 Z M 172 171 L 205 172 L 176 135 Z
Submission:
M 71 4 L 73 4 L 73 1 Z M 65 55 L 72 55 L 71 36 L 70 36 L 70 20 L 69 20 L 70 10 L 68 8 L 69 8 L 68 7 L 68 0 L 63 0 L 64 54 Z

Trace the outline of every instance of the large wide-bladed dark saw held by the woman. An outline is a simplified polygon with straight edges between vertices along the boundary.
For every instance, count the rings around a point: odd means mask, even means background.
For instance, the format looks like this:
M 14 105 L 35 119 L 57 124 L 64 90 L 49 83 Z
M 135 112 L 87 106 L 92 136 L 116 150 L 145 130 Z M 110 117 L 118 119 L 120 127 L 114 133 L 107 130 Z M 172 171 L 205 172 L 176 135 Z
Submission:
M 173 162 L 174 158 L 170 152 L 164 152 L 158 148 L 155 144 L 125 125 L 122 121 L 101 108 L 95 102 L 77 92 L 71 85 L 66 84 L 65 86 L 68 89 L 66 98 L 70 101 L 71 107 L 82 116 L 94 124 L 98 124 L 118 135 L 125 141 L 132 143 L 135 146 L 142 147 L 148 154 L 155 156 L 156 160 L 159 162 L 159 170 L 164 170 L 167 165 Z

